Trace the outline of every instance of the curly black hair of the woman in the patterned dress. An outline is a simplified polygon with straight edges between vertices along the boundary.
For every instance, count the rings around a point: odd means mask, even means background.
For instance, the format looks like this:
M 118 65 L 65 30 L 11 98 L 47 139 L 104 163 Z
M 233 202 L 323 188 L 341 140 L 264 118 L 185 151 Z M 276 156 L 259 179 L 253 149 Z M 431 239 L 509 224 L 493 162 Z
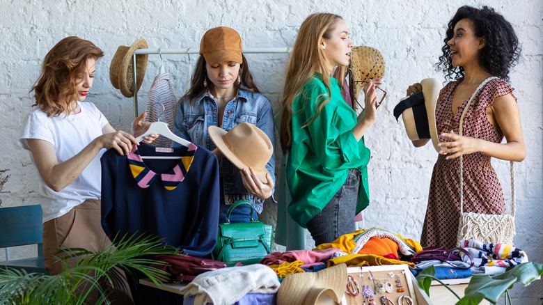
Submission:
M 450 58 L 450 47 L 447 42 L 453 38 L 457 22 L 470 19 L 476 37 L 485 37 L 486 45 L 479 52 L 479 61 L 483 69 L 491 75 L 509 81 L 509 72 L 519 61 L 521 48 L 519 39 L 514 33 L 512 25 L 505 18 L 496 13 L 494 8 L 483 6 L 481 9 L 471 6 L 459 8 L 453 19 L 448 23 L 445 45 L 441 48 L 443 55 L 436 63 L 437 70 L 442 70 L 448 79 L 462 79 L 464 68 L 455 67 Z

